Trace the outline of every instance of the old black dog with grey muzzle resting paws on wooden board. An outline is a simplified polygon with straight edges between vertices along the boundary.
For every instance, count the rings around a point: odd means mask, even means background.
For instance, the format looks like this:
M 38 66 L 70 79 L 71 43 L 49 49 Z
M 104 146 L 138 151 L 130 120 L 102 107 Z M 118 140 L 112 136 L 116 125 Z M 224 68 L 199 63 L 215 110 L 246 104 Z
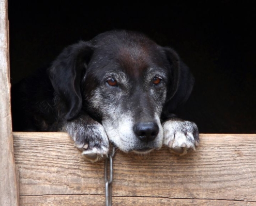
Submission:
M 67 131 L 92 162 L 110 143 L 139 154 L 199 145 L 195 123 L 174 115 L 192 91 L 188 66 L 143 33 L 112 30 L 66 47 L 12 88 L 14 131 Z

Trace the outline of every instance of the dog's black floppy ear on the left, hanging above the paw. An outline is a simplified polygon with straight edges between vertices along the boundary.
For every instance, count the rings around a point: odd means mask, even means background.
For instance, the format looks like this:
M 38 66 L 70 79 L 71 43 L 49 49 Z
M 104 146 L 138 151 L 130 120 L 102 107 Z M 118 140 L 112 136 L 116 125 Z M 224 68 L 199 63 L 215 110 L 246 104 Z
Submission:
M 55 92 L 65 102 L 67 120 L 76 117 L 82 108 L 81 78 L 92 54 L 91 43 L 80 41 L 65 48 L 48 69 Z

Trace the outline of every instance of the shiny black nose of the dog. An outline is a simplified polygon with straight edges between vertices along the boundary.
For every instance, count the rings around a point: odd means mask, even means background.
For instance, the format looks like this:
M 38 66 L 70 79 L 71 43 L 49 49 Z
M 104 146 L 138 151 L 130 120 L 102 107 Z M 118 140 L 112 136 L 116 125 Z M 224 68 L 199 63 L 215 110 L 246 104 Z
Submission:
M 133 131 L 141 141 L 150 142 L 156 139 L 159 127 L 154 122 L 139 122 L 134 125 Z

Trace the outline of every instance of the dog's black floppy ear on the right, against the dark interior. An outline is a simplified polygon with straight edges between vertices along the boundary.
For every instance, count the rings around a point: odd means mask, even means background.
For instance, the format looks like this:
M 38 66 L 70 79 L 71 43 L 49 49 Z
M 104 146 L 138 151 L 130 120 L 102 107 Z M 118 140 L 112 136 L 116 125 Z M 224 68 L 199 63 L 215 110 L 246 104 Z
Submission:
M 194 77 L 189 67 L 179 59 L 178 54 L 173 49 L 164 47 L 164 50 L 171 65 L 167 98 L 163 109 L 164 115 L 168 116 L 178 106 L 186 102 L 193 89 Z

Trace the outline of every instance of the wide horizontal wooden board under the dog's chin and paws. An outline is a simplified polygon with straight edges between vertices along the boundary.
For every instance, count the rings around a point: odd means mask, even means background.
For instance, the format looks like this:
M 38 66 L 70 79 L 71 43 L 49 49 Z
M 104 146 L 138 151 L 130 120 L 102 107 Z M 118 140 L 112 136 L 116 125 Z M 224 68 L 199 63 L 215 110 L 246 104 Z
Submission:
M 21 205 L 104 202 L 103 161 L 84 160 L 66 133 L 13 132 L 13 139 Z M 201 134 L 197 151 L 182 157 L 167 148 L 144 156 L 117 151 L 113 201 L 255 205 L 255 140 L 256 134 Z

